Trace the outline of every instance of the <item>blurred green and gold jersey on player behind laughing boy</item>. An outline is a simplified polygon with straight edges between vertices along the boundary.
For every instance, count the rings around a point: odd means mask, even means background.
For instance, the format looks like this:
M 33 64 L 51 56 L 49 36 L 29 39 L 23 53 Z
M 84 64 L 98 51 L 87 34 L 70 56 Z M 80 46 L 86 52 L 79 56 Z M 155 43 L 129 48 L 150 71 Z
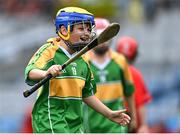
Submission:
M 93 55 L 91 55 L 93 56 Z M 97 93 L 95 94 L 112 110 L 124 109 L 124 96 L 134 92 L 132 78 L 125 58 L 113 51 L 102 64 L 89 60 L 93 72 Z M 85 128 L 90 133 L 119 133 L 127 132 L 127 128 L 108 120 L 90 107 L 85 106 Z

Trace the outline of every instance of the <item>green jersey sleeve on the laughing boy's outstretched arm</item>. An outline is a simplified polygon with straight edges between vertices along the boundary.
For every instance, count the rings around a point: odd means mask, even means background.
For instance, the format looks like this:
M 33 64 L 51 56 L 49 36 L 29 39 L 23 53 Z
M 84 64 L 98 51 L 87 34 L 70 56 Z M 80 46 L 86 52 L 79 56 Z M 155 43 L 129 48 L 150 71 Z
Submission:
M 86 79 L 85 87 L 82 90 L 82 97 L 86 98 L 94 95 L 95 93 L 96 93 L 96 83 L 93 74 L 91 72 L 91 69 L 88 65 L 87 79 Z

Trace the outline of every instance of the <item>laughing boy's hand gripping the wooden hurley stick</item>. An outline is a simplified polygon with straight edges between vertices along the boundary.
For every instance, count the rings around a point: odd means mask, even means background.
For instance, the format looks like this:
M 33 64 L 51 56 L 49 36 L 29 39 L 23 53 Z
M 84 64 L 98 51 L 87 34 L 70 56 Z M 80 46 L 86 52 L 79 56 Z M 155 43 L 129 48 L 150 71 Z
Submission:
M 53 77 L 56 77 L 61 74 L 62 67 L 60 65 L 52 65 L 47 71 L 45 76 L 52 74 Z

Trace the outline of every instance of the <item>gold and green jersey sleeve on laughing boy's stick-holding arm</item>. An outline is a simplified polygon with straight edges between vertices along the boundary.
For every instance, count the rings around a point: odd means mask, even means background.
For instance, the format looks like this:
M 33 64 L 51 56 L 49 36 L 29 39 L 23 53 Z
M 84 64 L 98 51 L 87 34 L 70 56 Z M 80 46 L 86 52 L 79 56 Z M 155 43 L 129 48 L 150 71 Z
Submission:
M 28 65 L 25 68 L 25 82 L 28 85 L 32 86 L 38 82 L 37 80 L 29 79 L 28 75 L 31 70 L 33 69 L 46 70 L 47 69 L 47 65 L 49 61 L 51 61 L 52 59 L 50 47 L 51 47 L 50 43 L 43 45 L 30 59 Z

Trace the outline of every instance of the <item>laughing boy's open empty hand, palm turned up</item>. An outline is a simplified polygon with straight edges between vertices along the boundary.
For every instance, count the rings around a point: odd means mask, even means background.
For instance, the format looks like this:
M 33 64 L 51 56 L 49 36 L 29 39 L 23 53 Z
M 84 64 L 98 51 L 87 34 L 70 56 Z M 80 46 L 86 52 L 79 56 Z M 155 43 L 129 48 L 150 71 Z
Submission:
M 130 123 L 131 118 L 129 115 L 125 114 L 126 109 L 123 110 L 118 110 L 118 111 L 112 111 L 110 114 L 109 119 L 112 120 L 113 122 L 116 122 L 122 126 L 125 126 Z

